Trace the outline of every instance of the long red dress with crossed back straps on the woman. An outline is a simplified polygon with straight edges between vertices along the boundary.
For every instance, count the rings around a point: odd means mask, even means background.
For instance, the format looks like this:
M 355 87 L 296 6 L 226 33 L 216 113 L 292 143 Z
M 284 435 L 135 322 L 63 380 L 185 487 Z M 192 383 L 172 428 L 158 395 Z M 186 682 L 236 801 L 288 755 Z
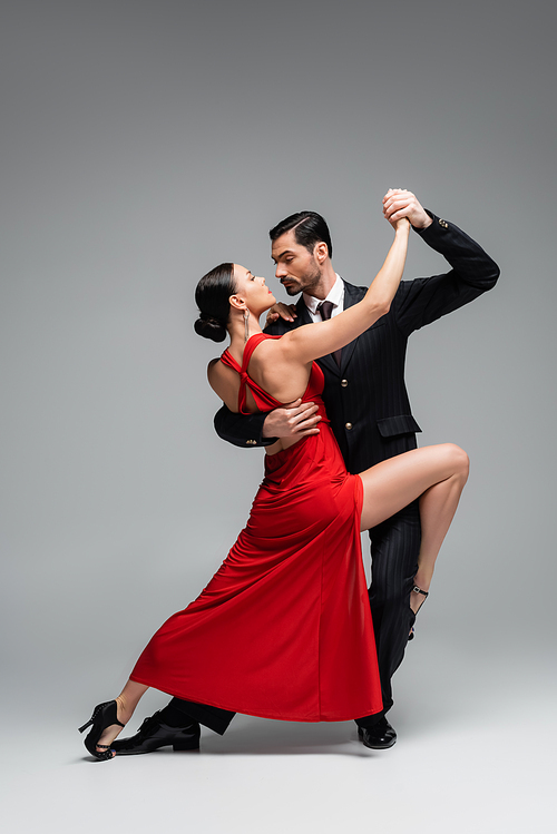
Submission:
M 241 374 L 261 411 L 281 403 Z M 339 722 L 382 709 L 360 544 L 362 481 L 346 472 L 313 364 L 304 401 L 320 433 L 265 455 L 250 519 L 196 600 L 173 615 L 130 677 L 178 698 L 295 722 Z

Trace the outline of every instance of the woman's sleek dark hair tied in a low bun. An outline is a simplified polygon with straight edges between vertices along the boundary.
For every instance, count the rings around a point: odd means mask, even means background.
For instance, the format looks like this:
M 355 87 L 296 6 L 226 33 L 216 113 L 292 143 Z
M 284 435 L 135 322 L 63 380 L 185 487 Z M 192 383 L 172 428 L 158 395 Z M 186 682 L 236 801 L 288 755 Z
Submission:
M 235 292 L 234 264 L 219 264 L 203 276 L 195 290 L 195 303 L 199 307 L 199 317 L 194 323 L 197 335 L 224 342 L 231 313 L 228 298 Z

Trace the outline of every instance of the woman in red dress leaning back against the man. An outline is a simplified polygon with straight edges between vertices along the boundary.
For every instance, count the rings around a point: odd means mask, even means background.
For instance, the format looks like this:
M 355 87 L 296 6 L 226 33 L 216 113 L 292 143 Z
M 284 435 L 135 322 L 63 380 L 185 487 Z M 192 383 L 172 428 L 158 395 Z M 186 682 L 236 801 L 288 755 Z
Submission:
M 240 534 L 202 595 L 157 631 L 114 701 L 96 707 L 86 746 L 110 744 L 149 686 L 196 704 L 285 720 L 344 720 L 382 708 L 360 530 L 420 497 L 422 543 L 414 593 L 427 595 L 468 475 L 451 444 L 417 449 L 348 474 L 326 421 L 314 360 L 384 315 L 402 276 L 410 225 L 393 223 L 387 259 L 364 298 L 334 318 L 265 336 L 275 298 L 264 278 L 222 264 L 199 282 L 196 331 L 228 349 L 209 364 L 232 411 L 314 401 L 321 431 L 266 449 L 265 479 Z M 293 675 L 293 669 L 295 675 Z M 177 748 L 175 746 L 175 748 Z

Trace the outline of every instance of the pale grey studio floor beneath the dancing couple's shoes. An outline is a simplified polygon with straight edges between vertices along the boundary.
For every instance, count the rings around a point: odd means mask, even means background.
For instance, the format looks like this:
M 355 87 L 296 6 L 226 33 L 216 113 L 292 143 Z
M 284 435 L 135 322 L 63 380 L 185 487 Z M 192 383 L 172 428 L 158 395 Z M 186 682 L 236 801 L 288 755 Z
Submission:
M 504 647 L 488 660 L 463 645 L 423 617 L 397 676 L 399 740 L 381 753 L 351 723 L 240 716 L 223 738 L 206 732 L 201 753 L 95 763 L 75 729 L 92 699 L 70 703 L 69 689 L 45 710 L 27 691 L 2 732 L 4 830 L 555 832 L 547 658 Z M 165 700 L 149 693 L 133 728 Z

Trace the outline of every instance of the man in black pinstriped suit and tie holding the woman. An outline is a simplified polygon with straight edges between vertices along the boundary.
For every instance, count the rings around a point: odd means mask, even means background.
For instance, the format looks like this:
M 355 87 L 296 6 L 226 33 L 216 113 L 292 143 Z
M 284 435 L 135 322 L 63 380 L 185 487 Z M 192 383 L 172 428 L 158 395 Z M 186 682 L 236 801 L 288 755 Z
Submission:
M 421 431 L 410 411 L 404 384 L 409 335 L 468 304 L 495 286 L 499 268 L 461 229 L 426 210 L 410 192 L 390 189 L 383 199 L 388 220 L 408 217 L 417 234 L 452 267 L 429 278 L 402 282 L 391 308 L 354 342 L 319 360 L 324 376 L 323 400 L 349 472 L 361 472 L 382 460 L 414 449 Z M 302 292 L 291 314 L 283 308 L 266 332 L 322 321 L 362 298 L 367 287 L 344 282 L 333 269 L 332 243 L 324 219 L 313 212 L 291 215 L 271 229 L 276 277 L 289 295 Z M 368 277 L 368 276 L 367 276 Z M 267 415 L 215 416 L 218 434 L 236 445 L 267 445 L 277 436 L 304 436 L 319 431 L 314 409 L 300 401 Z M 370 605 L 378 649 L 383 713 L 358 722 L 365 746 L 385 749 L 397 734 L 385 714 L 392 706 L 391 677 L 400 666 L 423 597 L 413 591 L 420 547 L 418 502 L 370 530 L 372 582 Z M 233 714 L 173 698 L 147 718 L 139 733 L 116 740 L 119 754 L 148 753 L 172 744 L 176 728 L 198 738 L 198 723 L 224 733 Z

